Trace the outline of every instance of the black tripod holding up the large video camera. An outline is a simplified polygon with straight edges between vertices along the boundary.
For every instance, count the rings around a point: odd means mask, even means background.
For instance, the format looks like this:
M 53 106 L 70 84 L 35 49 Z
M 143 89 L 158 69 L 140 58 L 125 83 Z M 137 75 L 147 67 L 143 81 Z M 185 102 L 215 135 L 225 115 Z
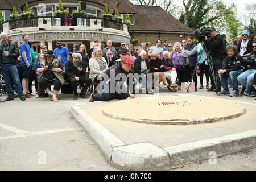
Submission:
M 213 81 L 214 81 L 214 84 L 216 85 L 216 88 L 217 88 L 217 84 L 216 84 L 216 75 L 214 73 L 214 68 L 213 68 L 213 61 L 212 61 L 212 56 L 210 55 L 210 51 L 208 51 L 207 49 L 207 46 L 205 44 L 203 44 L 203 47 L 204 47 L 204 50 L 205 50 L 205 53 L 207 55 L 207 62 L 209 64 L 209 67 L 210 67 L 210 72 L 212 73 L 212 78 L 213 78 Z M 209 55 L 208 55 L 208 52 L 209 52 Z M 196 73 L 196 68 L 197 68 L 197 65 L 199 63 L 199 60 L 201 59 L 201 56 L 203 55 L 203 52 L 201 53 L 201 55 L 198 57 L 197 61 L 196 61 L 196 65 L 195 65 L 195 68 L 193 70 L 193 73 L 192 73 L 192 77 L 191 77 L 191 80 L 190 80 L 190 83 L 188 85 L 188 88 L 187 88 L 187 92 L 191 86 L 191 83 L 192 83 L 192 79 Z

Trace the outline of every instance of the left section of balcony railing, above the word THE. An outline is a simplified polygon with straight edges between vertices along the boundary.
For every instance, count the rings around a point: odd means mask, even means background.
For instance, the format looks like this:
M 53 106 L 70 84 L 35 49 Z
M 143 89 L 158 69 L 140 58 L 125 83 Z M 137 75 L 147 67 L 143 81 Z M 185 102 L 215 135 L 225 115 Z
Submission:
M 9 23 L 11 30 L 16 28 L 38 27 L 38 17 L 11 21 Z

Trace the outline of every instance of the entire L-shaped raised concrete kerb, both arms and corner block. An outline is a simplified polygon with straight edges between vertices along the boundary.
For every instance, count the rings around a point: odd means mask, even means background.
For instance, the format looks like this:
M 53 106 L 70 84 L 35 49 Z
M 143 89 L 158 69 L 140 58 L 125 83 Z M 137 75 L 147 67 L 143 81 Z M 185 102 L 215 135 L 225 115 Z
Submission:
M 166 148 L 149 142 L 126 145 L 81 107 L 72 106 L 71 114 L 88 131 L 108 162 L 119 169 L 168 170 L 209 159 L 210 151 L 219 157 L 256 147 L 255 130 Z

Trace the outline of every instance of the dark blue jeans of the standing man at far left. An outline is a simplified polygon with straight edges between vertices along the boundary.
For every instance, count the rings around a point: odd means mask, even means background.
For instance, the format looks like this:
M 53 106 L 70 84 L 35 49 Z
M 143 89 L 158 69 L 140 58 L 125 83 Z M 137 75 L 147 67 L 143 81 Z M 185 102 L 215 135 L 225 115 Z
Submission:
M 19 95 L 19 98 L 24 97 L 23 91 L 22 91 L 22 86 L 21 86 L 20 80 L 19 80 L 19 73 L 18 73 L 18 69 L 17 69 L 16 65 L 2 64 L 1 67 L 2 67 L 3 79 L 5 80 L 5 86 L 6 86 L 6 91 L 7 91 L 8 97 L 14 98 L 13 97 L 13 88 L 11 86 L 11 78 L 13 78 L 15 89 Z

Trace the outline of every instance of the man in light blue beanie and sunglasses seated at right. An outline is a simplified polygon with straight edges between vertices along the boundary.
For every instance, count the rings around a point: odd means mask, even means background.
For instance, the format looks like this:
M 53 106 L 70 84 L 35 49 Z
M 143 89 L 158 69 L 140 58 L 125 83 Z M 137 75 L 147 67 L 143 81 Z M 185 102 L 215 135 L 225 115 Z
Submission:
M 248 57 L 253 51 L 253 39 L 250 39 L 249 36 L 246 29 L 242 31 L 242 41 L 238 44 L 238 52 L 242 57 Z

